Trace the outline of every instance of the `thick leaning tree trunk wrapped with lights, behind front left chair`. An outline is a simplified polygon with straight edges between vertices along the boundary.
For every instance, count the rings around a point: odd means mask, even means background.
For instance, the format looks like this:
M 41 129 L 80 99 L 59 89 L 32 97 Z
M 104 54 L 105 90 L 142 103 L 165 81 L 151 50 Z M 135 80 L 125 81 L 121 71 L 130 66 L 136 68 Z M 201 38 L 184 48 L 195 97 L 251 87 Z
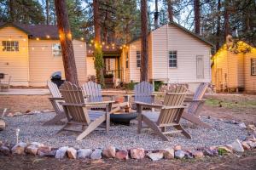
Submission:
M 78 73 L 73 54 L 72 34 L 69 27 L 67 4 L 65 0 L 55 0 L 55 13 L 60 34 L 65 77 L 67 81 L 79 85 Z

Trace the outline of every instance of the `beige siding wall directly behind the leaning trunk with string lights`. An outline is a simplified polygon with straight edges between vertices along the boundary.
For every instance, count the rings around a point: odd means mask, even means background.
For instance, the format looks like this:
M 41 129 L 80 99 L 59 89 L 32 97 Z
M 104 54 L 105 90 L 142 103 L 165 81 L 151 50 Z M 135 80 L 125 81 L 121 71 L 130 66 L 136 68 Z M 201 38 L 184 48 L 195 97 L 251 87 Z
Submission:
M 30 86 L 45 86 L 46 81 L 55 71 L 61 71 L 62 78 L 65 78 L 61 55 L 52 54 L 52 44 L 58 42 L 58 40 L 29 40 Z M 74 40 L 73 48 L 79 83 L 84 83 L 87 78 L 85 43 Z

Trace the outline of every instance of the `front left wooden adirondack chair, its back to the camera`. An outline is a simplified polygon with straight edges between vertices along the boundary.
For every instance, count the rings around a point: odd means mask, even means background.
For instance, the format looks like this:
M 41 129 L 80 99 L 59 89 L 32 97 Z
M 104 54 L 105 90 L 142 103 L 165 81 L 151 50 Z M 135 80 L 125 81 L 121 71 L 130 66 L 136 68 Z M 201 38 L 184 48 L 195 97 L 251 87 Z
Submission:
M 63 130 L 81 132 L 77 137 L 77 140 L 81 140 L 95 130 L 96 127 L 99 127 L 102 122 L 106 122 L 106 131 L 108 133 L 110 126 L 109 111 L 113 101 L 84 103 L 82 89 L 71 82 L 64 82 L 60 91 L 65 101 L 61 105 L 67 116 L 67 124 L 61 128 L 59 133 Z M 107 111 L 87 110 L 87 107 L 96 105 L 106 105 Z M 81 130 L 72 128 L 74 126 L 81 126 Z

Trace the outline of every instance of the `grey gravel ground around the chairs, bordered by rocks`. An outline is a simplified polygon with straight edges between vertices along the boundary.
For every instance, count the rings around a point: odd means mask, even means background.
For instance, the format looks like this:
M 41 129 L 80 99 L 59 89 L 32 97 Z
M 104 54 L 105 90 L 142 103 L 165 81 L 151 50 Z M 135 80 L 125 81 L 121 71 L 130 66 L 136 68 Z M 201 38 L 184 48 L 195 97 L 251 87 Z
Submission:
M 236 124 L 202 117 L 202 120 L 210 124 L 212 129 L 195 127 L 190 122 L 182 121 L 183 127 L 191 134 L 192 139 L 186 139 L 182 134 L 177 134 L 170 136 L 170 141 L 166 142 L 150 129 L 143 129 L 143 133 L 137 134 L 136 121 L 132 121 L 130 127 L 114 125 L 110 127 L 108 134 L 104 130 L 97 130 L 90 133 L 85 139 L 76 141 L 76 134 L 71 132 L 56 135 L 63 125 L 42 126 L 54 115 L 54 113 L 38 113 L 35 115 L 4 117 L 8 127 L 0 133 L 0 140 L 15 143 L 15 129 L 20 128 L 21 141 L 37 141 L 54 147 L 67 145 L 75 148 L 96 149 L 113 144 L 119 149 L 143 147 L 146 150 L 157 150 L 172 147 L 176 144 L 181 144 L 184 148 L 230 144 L 235 139 L 244 139 L 247 136 L 247 131 Z

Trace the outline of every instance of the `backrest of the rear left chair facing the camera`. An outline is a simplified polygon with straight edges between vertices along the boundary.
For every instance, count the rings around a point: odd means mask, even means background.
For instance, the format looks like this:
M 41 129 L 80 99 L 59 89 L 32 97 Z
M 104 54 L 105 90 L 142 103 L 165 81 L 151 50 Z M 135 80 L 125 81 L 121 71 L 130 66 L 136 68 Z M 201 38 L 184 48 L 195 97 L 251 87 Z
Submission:
M 87 102 L 101 102 L 102 101 L 102 86 L 96 82 L 85 82 L 82 85 L 84 96 Z

